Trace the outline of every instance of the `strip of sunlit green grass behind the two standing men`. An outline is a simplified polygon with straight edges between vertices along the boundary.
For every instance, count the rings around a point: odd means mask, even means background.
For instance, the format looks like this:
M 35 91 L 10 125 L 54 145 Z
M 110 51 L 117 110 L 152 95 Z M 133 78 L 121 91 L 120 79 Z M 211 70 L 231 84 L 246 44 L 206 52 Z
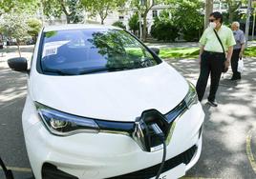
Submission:
M 199 48 L 167 48 L 160 49 L 160 58 L 198 58 Z M 256 47 L 250 47 L 245 50 L 245 56 L 256 57 Z

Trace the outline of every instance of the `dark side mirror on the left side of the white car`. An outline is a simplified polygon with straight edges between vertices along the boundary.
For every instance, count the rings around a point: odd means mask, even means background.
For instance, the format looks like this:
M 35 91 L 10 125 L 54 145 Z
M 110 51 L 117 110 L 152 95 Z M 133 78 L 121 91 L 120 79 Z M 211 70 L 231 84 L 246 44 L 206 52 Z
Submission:
M 28 71 L 28 62 L 26 58 L 16 57 L 8 60 L 8 65 L 11 70 L 25 72 Z

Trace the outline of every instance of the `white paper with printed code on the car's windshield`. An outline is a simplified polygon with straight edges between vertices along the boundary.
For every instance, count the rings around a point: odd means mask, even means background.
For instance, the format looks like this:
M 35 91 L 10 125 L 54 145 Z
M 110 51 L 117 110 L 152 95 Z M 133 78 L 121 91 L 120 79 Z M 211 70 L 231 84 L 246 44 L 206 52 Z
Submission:
M 70 41 L 65 40 L 65 41 L 55 41 L 55 42 L 45 43 L 42 58 L 53 55 L 53 54 L 57 54 L 57 49 L 67 44 L 68 42 Z

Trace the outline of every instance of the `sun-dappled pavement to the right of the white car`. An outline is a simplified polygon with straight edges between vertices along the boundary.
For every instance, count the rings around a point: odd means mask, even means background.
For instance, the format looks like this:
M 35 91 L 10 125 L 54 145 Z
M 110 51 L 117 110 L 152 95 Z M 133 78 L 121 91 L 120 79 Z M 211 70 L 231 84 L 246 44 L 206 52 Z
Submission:
M 199 76 L 197 60 L 168 62 L 196 84 Z M 205 112 L 203 152 L 188 176 L 256 178 L 256 58 L 245 58 L 241 81 L 228 80 L 231 74 L 229 69 L 221 79 L 218 108 L 205 104 L 208 82 L 202 102 Z

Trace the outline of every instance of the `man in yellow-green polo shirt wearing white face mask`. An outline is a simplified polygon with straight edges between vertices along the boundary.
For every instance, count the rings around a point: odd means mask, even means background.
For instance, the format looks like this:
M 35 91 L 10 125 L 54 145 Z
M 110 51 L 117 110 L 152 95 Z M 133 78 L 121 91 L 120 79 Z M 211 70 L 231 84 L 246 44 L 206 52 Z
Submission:
M 209 17 L 209 22 L 209 27 L 203 31 L 203 35 L 200 39 L 200 76 L 196 89 L 199 100 L 202 101 L 210 74 L 211 85 L 208 96 L 208 104 L 212 107 L 217 107 L 218 104 L 215 100 L 215 95 L 219 87 L 224 66 L 228 68 L 230 64 L 233 46 L 236 44 L 236 41 L 234 39 L 232 30 L 223 25 L 222 13 L 218 11 L 212 12 Z M 214 30 L 216 30 L 217 34 L 219 35 L 223 43 L 224 50 Z

